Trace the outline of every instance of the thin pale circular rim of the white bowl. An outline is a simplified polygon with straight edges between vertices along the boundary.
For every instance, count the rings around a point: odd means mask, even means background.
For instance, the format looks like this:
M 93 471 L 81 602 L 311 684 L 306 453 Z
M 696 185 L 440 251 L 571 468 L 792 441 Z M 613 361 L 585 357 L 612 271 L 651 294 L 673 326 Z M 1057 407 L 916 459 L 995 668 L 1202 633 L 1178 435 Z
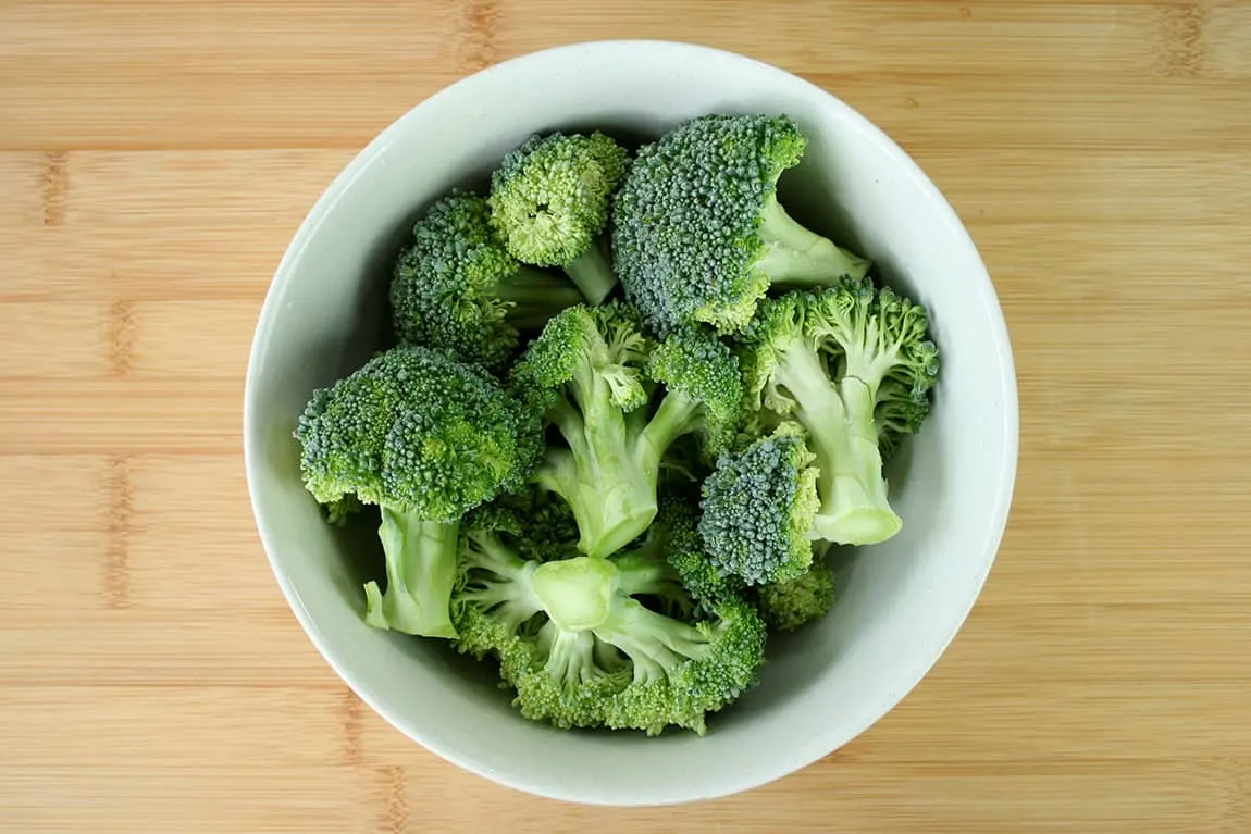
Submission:
M 293 275 L 295 274 L 294 269 L 300 261 L 309 241 L 317 235 L 322 223 L 325 220 L 327 215 L 338 200 L 349 189 L 353 180 L 355 180 L 364 169 L 373 165 L 374 161 L 385 153 L 393 140 L 404 130 L 405 124 L 413 118 L 413 114 L 429 103 L 454 96 L 460 89 L 469 84 L 479 84 L 483 79 L 488 79 L 493 75 L 512 73 L 520 66 L 550 61 L 553 59 L 575 60 L 579 55 L 605 49 L 653 53 L 656 50 L 662 50 L 673 55 L 704 55 L 714 56 L 719 60 L 736 61 L 743 66 L 751 68 L 753 71 L 773 74 L 779 81 L 791 84 L 796 89 L 804 89 L 814 99 L 822 99 L 827 106 L 841 110 L 847 121 L 853 124 L 857 130 L 863 131 L 871 141 L 878 144 L 893 158 L 894 163 L 898 165 L 898 170 L 933 201 L 933 205 L 940 214 L 940 220 L 946 226 L 947 231 L 952 236 L 960 239 L 962 244 L 967 245 L 970 251 L 973 254 L 976 264 L 981 269 L 981 283 L 983 284 L 980 295 L 983 301 L 983 306 L 986 308 L 985 314 L 992 330 L 992 340 L 997 345 L 1000 353 L 1000 368 L 1002 369 L 1000 384 L 1005 394 L 1002 404 L 1005 450 L 1002 460 L 998 464 L 1000 489 L 997 503 L 991 518 L 992 525 L 990 528 L 990 535 L 983 543 L 983 558 L 978 564 L 976 574 L 968 578 L 971 581 L 963 584 L 966 598 L 962 599 L 958 605 L 952 605 L 946 609 L 946 620 L 941 624 L 936 624 L 934 631 L 941 633 L 943 638 L 941 643 L 937 644 L 932 655 L 929 655 L 929 659 L 914 668 L 901 671 L 898 678 L 901 685 L 893 689 L 888 696 L 879 699 L 873 709 L 866 710 L 861 720 L 844 729 L 843 733 L 839 734 L 839 738 L 814 734 L 813 741 L 806 745 L 802 750 L 792 750 L 788 755 L 773 756 L 773 764 L 771 766 L 751 769 L 749 775 L 732 773 L 719 779 L 716 786 L 708 784 L 707 788 L 698 791 L 674 791 L 672 798 L 667 796 L 662 799 L 652 799 L 647 796 L 626 798 L 619 791 L 612 793 L 610 795 L 580 795 L 574 794 L 573 791 L 564 791 L 562 786 L 554 781 L 534 781 L 518 776 L 513 773 L 495 770 L 488 763 L 480 761 L 473 755 L 463 755 L 453 746 L 438 743 L 437 740 L 429 738 L 429 735 L 424 733 L 414 721 L 403 719 L 383 706 L 382 699 L 375 695 L 374 688 L 370 686 L 368 681 L 360 680 L 353 674 L 349 674 L 343 664 L 334 656 L 334 653 L 329 649 L 313 614 L 304 606 L 303 600 L 295 591 L 291 580 L 288 578 L 286 571 L 283 568 L 283 563 L 286 561 L 286 559 L 278 555 L 280 553 L 281 544 L 275 535 L 273 523 L 266 518 L 266 511 L 263 506 L 263 498 L 256 489 L 256 473 L 261 465 L 261 439 L 256 433 L 258 378 L 261 371 L 261 361 L 266 354 L 268 336 L 273 330 L 275 318 L 280 313 L 278 299 L 285 291 L 286 285 L 293 280 Z M 243 406 L 244 466 L 254 523 L 256 525 L 261 546 L 265 551 L 265 558 L 279 589 L 281 590 L 288 606 L 291 609 L 298 623 L 300 624 L 300 628 L 308 635 L 322 659 L 333 669 L 339 679 L 344 681 L 344 684 L 358 698 L 360 698 L 363 703 L 365 703 L 365 705 L 382 716 L 388 724 L 407 735 L 410 740 L 417 741 L 423 748 L 443 758 L 450 764 L 454 764 L 460 769 L 473 773 L 489 781 L 529 793 L 532 795 L 590 805 L 668 805 L 716 799 L 746 790 L 753 790 L 807 768 L 814 761 L 851 743 L 878 723 L 899 703 L 907 699 L 922 679 L 929 674 L 933 666 L 942 659 L 947 648 L 962 630 L 966 619 L 981 598 L 982 589 L 985 588 L 986 580 L 988 579 L 995 565 L 1007 529 L 1008 516 L 1011 514 L 1012 500 L 1016 490 L 1016 476 L 1020 458 L 1020 394 L 1017 389 L 1016 365 L 1007 321 L 998 301 L 995 284 L 988 270 L 986 269 L 986 264 L 977 249 L 976 243 L 965 224 L 961 221 L 955 208 L 948 203 L 928 175 L 924 174 L 912 156 L 908 155 L 908 153 L 904 151 L 893 139 L 891 139 L 884 130 L 878 128 L 869 119 L 833 93 L 808 81 L 807 79 L 782 69 L 781 66 L 742 53 L 698 43 L 666 39 L 584 40 L 565 43 L 517 55 L 474 73 L 463 75 L 452 84 L 440 88 L 434 94 L 415 103 L 412 108 L 402 113 L 389 125 L 379 131 L 353 156 L 353 159 L 339 171 L 339 174 L 335 175 L 322 194 L 318 195 L 308 214 L 300 221 L 300 225 L 298 226 L 291 240 L 288 243 L 281 259 L 274 269 L 269 288 L 265 293 L 259 315 L 256 318 L 256 325 L 249 350 Z M 941 625 L 941 628 L 938 628 L 938 625 Z M 744 774 L 746 773 L 747 770 L 744 769 Z

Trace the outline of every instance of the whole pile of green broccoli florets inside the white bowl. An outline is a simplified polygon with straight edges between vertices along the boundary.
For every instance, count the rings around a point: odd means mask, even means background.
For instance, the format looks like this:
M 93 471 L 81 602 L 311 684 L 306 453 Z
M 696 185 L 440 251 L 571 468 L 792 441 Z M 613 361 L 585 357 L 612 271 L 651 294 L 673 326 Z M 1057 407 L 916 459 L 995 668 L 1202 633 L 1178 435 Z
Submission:
M 923 306 L 779 203 L 806 144 L 766 114 L 634 159 L 534 134 L 489 194 L 425 210 L 390 276 L 398 345 L 295 429 L 327 524 L 378 508 L 368 624 L 498 663 L 525 719 L 703 735 L 769 634 L 829 613 L 832 543 L 901 529 L 883 461 L 938 349 Z

